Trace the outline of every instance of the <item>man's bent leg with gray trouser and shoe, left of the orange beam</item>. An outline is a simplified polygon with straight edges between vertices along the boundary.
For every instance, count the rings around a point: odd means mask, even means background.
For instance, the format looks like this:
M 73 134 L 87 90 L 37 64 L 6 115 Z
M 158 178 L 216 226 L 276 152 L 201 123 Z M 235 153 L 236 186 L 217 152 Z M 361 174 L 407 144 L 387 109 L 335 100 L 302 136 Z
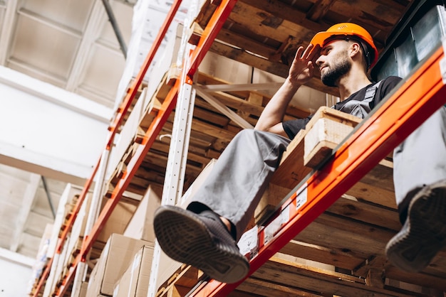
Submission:
M 289 139 L 264 131 L 237 134 L 187 210 L 164 206 L 155 213 L 155 233 L 164 252 L 218 281 L 232 283 L 246 276 L 249 262 L 237 240 L 288 144 Z M 232 223 L 233 232 L 220 217 Z

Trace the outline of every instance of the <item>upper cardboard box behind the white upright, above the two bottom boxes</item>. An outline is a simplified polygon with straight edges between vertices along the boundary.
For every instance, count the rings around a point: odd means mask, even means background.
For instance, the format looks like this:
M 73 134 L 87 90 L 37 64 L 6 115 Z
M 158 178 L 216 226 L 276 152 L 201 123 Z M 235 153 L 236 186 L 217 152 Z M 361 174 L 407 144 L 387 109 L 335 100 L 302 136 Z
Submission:
M 124 231 L 124 236 L 155 242 L 153 217 L 155 210 L 161 205 L 161 198 L 149 186 L 142 197 L 138 208 Z

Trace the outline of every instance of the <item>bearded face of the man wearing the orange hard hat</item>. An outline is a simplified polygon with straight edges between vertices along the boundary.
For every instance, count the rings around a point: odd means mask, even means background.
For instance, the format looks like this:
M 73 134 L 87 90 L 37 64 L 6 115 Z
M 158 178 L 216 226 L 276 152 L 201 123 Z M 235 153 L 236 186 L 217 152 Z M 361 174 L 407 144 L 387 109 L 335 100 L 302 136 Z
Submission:
M 347 41 L 331 41 L 323 46 L 316 65 L 321 72 L 321 80 L 328 87 L 338 87 L 341 77 L 351 70 L 351 60 L 348 57 Z

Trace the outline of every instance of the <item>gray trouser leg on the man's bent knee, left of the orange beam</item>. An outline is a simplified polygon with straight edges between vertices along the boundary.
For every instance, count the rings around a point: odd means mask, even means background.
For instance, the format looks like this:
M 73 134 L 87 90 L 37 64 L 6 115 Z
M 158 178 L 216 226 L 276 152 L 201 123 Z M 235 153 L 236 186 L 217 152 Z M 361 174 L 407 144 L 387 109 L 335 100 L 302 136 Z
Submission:
M 226 217 L 242 236 L 290 140 L 265 131 L 244 129 L 224 149 L 188 210 L 209 207 Z

